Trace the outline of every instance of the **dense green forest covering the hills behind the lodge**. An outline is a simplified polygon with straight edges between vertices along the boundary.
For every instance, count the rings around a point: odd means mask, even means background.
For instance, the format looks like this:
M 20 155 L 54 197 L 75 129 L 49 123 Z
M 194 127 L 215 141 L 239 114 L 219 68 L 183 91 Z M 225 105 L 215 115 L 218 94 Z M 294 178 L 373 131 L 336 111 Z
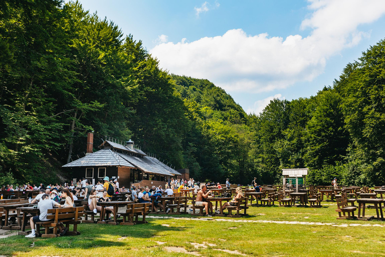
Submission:
M 247 114 L 204 79 L 159 68 L 133 35 L 78 2 L 0 2 L 0 184 L 66 181 L 62 165 L 105 136 L 199 181 L 385 184 L 385 41 L 315 96 Z

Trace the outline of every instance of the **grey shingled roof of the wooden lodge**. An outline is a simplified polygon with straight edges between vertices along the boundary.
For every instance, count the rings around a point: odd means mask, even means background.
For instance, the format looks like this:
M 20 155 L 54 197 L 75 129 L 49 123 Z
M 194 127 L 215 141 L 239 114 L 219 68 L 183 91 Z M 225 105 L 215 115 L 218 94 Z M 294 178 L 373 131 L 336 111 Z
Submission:
M 131 150 L 111 141 L 104 141 L 99 147 L 105 148 L 62 167 L 125 166 L 137 168 L 146 173 L 161 174 L 165 176 L 181 175 L 179 172 L 171 169 L 158 159 L 148 157 L 139 149 Z M 111 149 L 109 149 L 109 147 L 111 147 Z M 117 150 L 123 152 L 118 152 Z

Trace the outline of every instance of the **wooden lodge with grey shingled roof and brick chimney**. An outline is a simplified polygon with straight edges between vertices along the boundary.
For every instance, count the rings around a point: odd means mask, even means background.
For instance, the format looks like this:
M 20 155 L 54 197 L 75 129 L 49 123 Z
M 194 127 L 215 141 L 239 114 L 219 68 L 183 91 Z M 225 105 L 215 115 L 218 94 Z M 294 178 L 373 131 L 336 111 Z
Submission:
M 127 141 L 125 146 L 105 140 L 99 146 L 101 150 L 92 153 L 92 137 L 89 133 L 87 155 L 63 166 L 72 170 L 74 181 L 86 178 L 95 185 L 99 179 L 107 176 L 117 179 L 119 187 L 128 188 L 139 184 L 164 187 L 171 177 L 181 176 L 158 159 L 134 148 L 134 142 L 131 140 Z

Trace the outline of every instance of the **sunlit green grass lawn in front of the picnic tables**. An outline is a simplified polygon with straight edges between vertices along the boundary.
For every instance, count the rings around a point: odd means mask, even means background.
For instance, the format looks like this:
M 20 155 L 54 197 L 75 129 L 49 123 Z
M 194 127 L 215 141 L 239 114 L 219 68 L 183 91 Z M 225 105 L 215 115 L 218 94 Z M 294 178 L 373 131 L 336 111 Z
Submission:
M 385 222 L 337 220 L 336 204 L 322 204 L 250 207 L 250 216 L 242 218 L 179 215 L 149 217 L 148 224 L 134 226 L 80 224 L 79 236 L 0 239 L 0 255 L 385 256 Z

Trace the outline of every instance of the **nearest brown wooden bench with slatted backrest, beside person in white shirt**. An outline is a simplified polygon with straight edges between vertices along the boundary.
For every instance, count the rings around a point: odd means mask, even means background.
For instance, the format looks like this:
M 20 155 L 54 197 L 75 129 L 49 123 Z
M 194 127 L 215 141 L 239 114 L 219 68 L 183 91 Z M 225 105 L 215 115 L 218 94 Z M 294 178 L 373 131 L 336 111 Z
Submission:
M 68 231 L 66 235 L 79 235 L 77 226 L 81 222 L 81 217 L 84 214 L 84 207 L 66 207 L 66 208 L 55 208 L 47 211 L 47 219 L 49 221 L 37 222 L 37 225 L 45 227 L 45 233 L 42 237 L 57 237 L 58 227 L 61 223 L 65 224 Z M 69 231 L 70 224 L 74 225 L 73 231 Z M 53 232 L 50 233 L 50 227 L 53 228 Z

